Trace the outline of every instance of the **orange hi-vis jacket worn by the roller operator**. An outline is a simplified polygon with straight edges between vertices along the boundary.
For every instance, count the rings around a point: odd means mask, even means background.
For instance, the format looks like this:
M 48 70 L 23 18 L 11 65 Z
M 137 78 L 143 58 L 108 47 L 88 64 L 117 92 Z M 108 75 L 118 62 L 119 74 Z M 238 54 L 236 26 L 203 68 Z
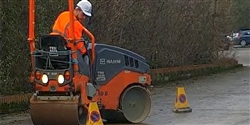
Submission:
M 65 39 L 69 37 L 69 11 L 64 11 L 62 12 L 56 19 L 54 25 L 53 25 L 53 31 L 50 34 L 60 34 L 62 35 Z M 75 40 L 78 41 L 82 39 L 82 31 L 83 31 L 83 25 L 78 21 L 74 20 L 74 35 L 75 35 Z M 67 47 L 68 44 L 67 44 Z M 84 46 L 83 42 L 77 42 L 76 44 L 76 49 L 80 51 L 81 54 L 86 53 L 86 48 Z

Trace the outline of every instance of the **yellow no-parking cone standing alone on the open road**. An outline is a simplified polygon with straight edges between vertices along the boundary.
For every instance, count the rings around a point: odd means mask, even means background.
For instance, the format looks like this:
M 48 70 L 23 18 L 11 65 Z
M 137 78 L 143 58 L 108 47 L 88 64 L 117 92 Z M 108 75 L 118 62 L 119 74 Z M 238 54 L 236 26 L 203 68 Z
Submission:
M 192 112 L 192 108 L 189 107 L 187 95 L 185 93 L 184 87 L 176 88 L 176 98 L 173 108 L 175 113 Z

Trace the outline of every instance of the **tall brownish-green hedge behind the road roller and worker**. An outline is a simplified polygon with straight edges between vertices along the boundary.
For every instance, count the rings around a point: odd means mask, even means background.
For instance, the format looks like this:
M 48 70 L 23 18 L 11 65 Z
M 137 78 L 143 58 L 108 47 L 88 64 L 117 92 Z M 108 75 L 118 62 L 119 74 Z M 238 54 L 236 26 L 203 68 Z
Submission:
M 35 1 L 38 37 L 51 31 L 67 3 Z M 244 0 L 238 4 L 235 0 L 90 1 L 94 16 L 88 28 L 96 42 L 132 50 L 144 56 L 151 68 L 212 63 L 219 59 L 214 53 L 224 34 L 235 24 L 249 22 L 239 22 L 249 15 L 244 9 L 250 5 Z M 0 95 L 29 92 L 27 4 L 28 0 L 0 0 Z

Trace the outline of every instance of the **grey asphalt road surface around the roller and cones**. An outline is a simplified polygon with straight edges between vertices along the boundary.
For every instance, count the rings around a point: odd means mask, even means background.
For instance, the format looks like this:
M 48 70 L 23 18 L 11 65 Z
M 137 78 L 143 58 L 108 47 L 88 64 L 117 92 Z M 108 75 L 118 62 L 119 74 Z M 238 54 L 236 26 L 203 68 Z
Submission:
M 250 49 L 237 49 L 244 68 L 154 86 L 151 113 L 140 125 L 250 125 L 249 56 Z M 175 84 L 185 86 L 191 113 L 172 112 Z M 33 125 L 28 113 L 1 117 L 0 125 Z

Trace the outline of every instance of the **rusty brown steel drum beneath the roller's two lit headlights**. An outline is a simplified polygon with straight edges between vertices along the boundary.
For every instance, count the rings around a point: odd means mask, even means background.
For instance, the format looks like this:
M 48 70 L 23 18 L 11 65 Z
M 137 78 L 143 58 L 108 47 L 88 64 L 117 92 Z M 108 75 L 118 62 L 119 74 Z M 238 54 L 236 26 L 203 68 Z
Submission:
M 30 99 L 30 114 L 34 125 L 83 125 L 86 115 L 79 106 L 79 96 L 74 100 L 37 101 Z

